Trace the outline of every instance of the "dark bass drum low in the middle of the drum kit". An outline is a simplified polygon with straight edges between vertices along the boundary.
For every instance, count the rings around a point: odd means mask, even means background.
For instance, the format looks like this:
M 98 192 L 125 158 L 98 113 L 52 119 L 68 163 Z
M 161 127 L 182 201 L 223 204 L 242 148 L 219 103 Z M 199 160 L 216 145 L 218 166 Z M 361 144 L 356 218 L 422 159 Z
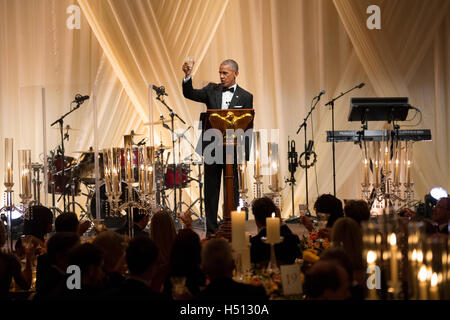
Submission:
M 125 191 L 125 192 L 124 192 Z M 125 194 L 127 192 L 127 184 L 122 182 L 122 195 L 120 196 L 122 204 L 125 202 Z M 138 196 L 136 190 L 133 190 L 134 197 Z M 97 218 L 97 209 L 96 209 L 96 194 L 94 192 L 94 196 L 91 199 L 90 203 L 91 216 L 92 219 Z M 108 214 L 107 214 L 108 213 Z M 139 213 L 139 209 L 133 208 L 133 214 Z M 120 231 L 125 231 L 127 228 L 127 216 L 123 213 L 122 216 L 111 216 L 110 215 L 110 205 L 108 203 L 108 197 L 106 196 L 106 187 L 105 184 L 100 186 L 100 219 L 103 219 L 103 223 L 108 230 L 116 231 L 121 233 Z

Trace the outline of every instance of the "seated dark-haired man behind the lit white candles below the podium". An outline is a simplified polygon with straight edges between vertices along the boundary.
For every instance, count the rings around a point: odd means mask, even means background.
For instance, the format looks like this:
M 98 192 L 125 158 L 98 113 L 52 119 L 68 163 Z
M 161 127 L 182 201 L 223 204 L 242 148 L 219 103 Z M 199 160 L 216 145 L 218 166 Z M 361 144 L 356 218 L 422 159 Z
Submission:
M 258 234 L 250 239 L 251 261 L 255 264 L 267 263 L 270 260 L 270 245 L 262 240 L 262 237 L 266 236 L 266 218 L 271 217 L 273 212 L 279 217 L 279 209 L 272 200 L 264 197 L 253 202 L 252 212 L 255 216 Z M 275 245 L 276 258 L 280 264 L 292 264 L 296 258 L 301 256 L 298 246 L 300 239 L 286 224 L 281 224 L 280 236 L 283 237 L 283 242 Z

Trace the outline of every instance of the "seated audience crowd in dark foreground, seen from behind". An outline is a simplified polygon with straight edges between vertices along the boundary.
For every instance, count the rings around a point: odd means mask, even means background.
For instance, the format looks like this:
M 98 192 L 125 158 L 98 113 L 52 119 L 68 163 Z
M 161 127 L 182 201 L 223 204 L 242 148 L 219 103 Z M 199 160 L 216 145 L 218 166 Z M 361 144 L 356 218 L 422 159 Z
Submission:
M 368 204 L 350 200 L 343 205 L 336 197 L 324 194 L 314 209 L 315 214 L 301 216 L 300 223 L 308 232 L 329 241 L 330 247 L 302 269 L 304 298 L 364 299 L 367 275 L 361 224 L 370 219 Z M 264 268 L 270 260 L 270 245 L 263 241 L 266 218 L 274 213 L 281 219 L 280 210 L 271 199 L 260 198 L 253 201 L 251 211 L 257 232 L 250 238 L 250 259 L 254 268 Z M 448 235 L 449 212 L 450 198 L 442 198 L 428 221 L 429 231 Z M 402 210 L 399 215 L 415 219 L 411 210 Z M 34 267 L 35 290 L 29 297 L 34 300 L 268 299 L 263 286 L 234 280 L 235 255 L 227 240 L 201 240 L 192 230 L 189 213 L 179 218 L 185 227 L 177 231 L 167 211 L 139 213 L 132 239 L 121 232 L 95 228 L 95 236 L 88 240 L 84 235 L 94 232 L 89 221 L 80 222 L 75 213 L 67 212 L 53 223 L 49 209 L 33 207 L 15 250 L 0 251 L 0 299 L 13 299 L 12 287 L 29 290 Z M 316 219 L 326 221 L 319 230 L 314 227 Z M 306 259 L 299 235 L 284 222 L 280 235 L 282 242 L 274 247 L 279 265 Z M 5 242 L 5 228 L 0 223 L 0 248 Z M 71 276 L 74 271 L 69 266 L 79 268 L 79 279 Z

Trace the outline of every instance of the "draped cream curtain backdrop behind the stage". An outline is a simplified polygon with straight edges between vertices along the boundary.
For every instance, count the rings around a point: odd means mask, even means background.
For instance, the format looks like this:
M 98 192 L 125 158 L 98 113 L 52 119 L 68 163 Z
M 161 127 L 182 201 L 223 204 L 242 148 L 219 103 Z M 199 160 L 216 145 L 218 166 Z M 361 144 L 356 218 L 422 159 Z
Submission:
M 66 27 L 71 4 L 82 10 L 79 30 Z M 381 30 L 366 27 L 366 8 L 373 4 L 381 8 Z M 405 129 L 428 128 L 433 136 L 432 142 L 414 145 L 412 175 L 420 199 L 433 186 L 450 189 L 449 13 L 445 0 L 0 0 L 2 149 L 4 138 L 14 137 L 15 156 L 16 150 L 30 148 L 33 161 L 40 160 L 42 86 L 48 88 L 47 123 L 69 110 L 76 93 L 95 94 L 100 148 L 120 146 L 130 130 L 148 132 L 144 122 L 150 121 L 151 84 L 164 85 L 167 103 L 194 125 L 205 107 L 182 96 L 185 57 L 195 57 L 196 87 L 217 82 L 220 62 L 233 58 L 240 66 L 239 85 L 254 95 L 255 128 L 279 130 L 284 178 L 289 177 L 287 138 L 295 139 L 300 153 L 303 132 L 296 135 L 297 128 L 311 99 L 327 91 L 313 113 L 313 126 L 308 124 L 308 139 L 313 128 L 318 154 L 308 175 L 310 203 L 333 191 L 331 145 L 325 142 L 331 111 L 324 103 L 365 82 L 363 89 L 335 105 L 336 129 L 351 130 L 359 128 L 347 121 L 351 97 L 409 97 L 423 120 Z M 151 105 L 152 120 L 167 115 L 159 102 L 151 99 Z M 67 123 L 80 129 L 68 142 L 69 153 L 92 146 L 91 103 L 69 119 Z M 179 122 L 177 127 L 187 128 Z M 58 136 L 47 131 L 51 149 Z M 171 143 L 168 132 L 158 127 L 155 141 Z M 183 157 L 190 152 L 185 146 Z M 336 174 L 337 196 L 359 198 L 358 146 L 336 145 Z M 17 180 L 17 170 L 15 175 Z M 296 179 L 297 207 L 305 202 L 302 170 Z M 188 189 L 186 196 L 196 198 L 197 190 Z M 283 215 L 288 216 L 288 189 L 283 201 Z

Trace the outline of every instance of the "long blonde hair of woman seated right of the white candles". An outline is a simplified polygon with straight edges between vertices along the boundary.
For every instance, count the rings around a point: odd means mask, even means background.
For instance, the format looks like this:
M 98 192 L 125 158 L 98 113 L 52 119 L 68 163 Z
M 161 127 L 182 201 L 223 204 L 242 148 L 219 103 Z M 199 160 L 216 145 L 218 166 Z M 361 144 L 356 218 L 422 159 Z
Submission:
M 362 233 L 355 220 L 348 217 L 337 219 L 331 229 L 331 241 L 342 245 L 355 270 L 363 268 Z

